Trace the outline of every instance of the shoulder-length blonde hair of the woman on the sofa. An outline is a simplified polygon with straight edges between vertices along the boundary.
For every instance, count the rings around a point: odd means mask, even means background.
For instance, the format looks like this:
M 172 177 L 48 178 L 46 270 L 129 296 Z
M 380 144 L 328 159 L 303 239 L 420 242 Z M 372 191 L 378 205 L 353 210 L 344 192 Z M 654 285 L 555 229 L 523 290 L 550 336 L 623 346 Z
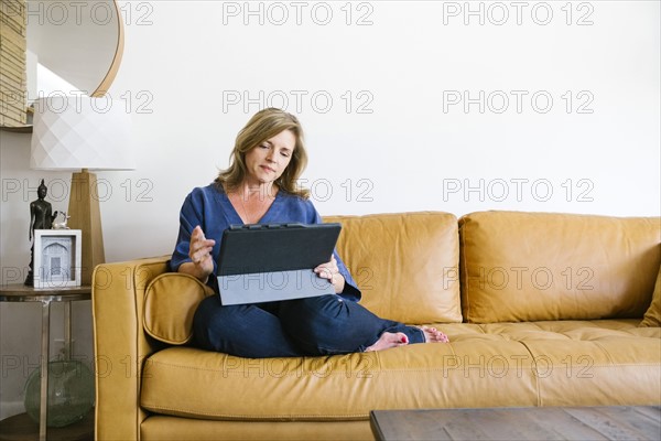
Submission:
M 214 181 L 228 192 L 236 190 L 246 178 L 246 153 L 278 133 L 289 130 L 296 138 L 292 159 L 284 172 L 275 180 L 280 190 L 307 198 L 310 191 L 299 186 L 299 178 L 307 165 L 307 152 L 303 140 L 303 127 L 299 119 L 284 110 L 270 107 L 258 111 L 239 131 L 235 148 L 229 155 L 229 168 L 220 171 Z

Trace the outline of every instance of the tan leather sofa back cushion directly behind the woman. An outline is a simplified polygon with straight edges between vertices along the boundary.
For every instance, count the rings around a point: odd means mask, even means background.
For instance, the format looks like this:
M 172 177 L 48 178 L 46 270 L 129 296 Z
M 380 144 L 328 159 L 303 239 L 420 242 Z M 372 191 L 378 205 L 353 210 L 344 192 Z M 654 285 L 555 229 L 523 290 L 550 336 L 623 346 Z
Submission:
M 333 216 L 343 225 L 337 250 L 361 304 L 403 323 L 462 321 L 457 218 L 447 213 Z

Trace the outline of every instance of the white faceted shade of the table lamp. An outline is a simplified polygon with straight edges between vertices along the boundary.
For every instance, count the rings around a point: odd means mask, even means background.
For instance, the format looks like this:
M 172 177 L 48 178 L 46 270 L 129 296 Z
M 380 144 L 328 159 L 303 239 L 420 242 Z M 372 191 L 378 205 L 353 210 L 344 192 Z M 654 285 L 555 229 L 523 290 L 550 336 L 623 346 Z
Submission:
M 123 101 L 54 95 L 34 103 L 30 168 L 133 170 L 130 116 Z

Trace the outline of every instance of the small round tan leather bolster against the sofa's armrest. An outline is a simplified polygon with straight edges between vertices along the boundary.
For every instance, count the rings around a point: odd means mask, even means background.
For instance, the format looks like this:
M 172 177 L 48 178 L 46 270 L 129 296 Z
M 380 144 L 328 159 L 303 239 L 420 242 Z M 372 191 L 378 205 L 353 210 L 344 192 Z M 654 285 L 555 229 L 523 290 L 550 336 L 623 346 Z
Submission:
M 193 337 L 193 315 L 214 291 L 193 276 L 166 272 L 154 278 L 144 293 L 144 331 L 172 345 Z

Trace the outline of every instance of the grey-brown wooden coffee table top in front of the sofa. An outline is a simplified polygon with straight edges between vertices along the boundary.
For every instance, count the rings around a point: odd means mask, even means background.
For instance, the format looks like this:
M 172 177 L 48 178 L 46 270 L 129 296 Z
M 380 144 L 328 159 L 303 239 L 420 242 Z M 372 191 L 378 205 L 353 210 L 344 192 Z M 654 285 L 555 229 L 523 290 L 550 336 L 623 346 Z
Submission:
M 379 441 L 661 440 L 661 407 L 373 410 Z

